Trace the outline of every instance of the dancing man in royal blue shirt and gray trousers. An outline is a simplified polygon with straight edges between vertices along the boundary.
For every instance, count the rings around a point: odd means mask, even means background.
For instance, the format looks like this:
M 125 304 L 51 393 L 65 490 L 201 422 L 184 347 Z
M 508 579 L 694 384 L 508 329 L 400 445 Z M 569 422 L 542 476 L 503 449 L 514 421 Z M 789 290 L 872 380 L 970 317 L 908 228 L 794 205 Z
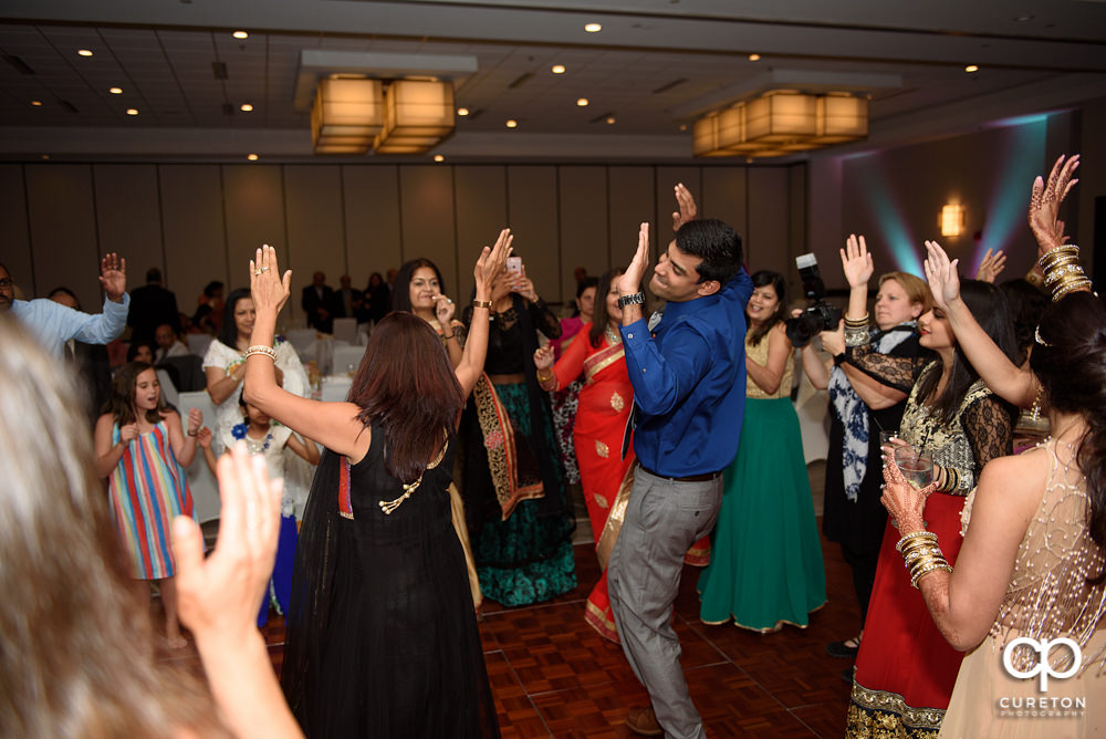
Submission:
M 726 223 L 695 220 L 695 202 L 676 187 L 680 214 L 667 259 L 649 290 L 667 301 L 650 335 L 638 285 L 648 266 L 649 226 L 617 289 L 623 346 L 639 417 L 634 488 L 607 576 L 623 650 L 649 691 L 651 707 L 632 710 L 638 733 L 703 737 L 702 719 L 680 668 L 671 626 L 684 554 L 714 525 L 721 471 L 738 452 L 745 402 L 745 303 L 752 281 L 741 239 Z

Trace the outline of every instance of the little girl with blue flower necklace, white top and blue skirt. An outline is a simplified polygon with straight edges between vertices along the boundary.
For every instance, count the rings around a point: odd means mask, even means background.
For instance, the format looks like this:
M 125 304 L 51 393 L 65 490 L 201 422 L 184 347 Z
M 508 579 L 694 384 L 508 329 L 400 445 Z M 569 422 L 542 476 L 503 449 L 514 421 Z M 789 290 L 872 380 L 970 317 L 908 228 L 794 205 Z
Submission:
M 284 477 L 284 447 L 291 449 L 307 464 L 319 464 L 319 445 L 314 441 L 306 437 L 301 439 L 288 426 L 274 423 L 261 408 L 247 403 L 241 393 L 238 395 L 238 407 L 242 413 L 242 423 L 232 426 L 229 431 L 225 433 L 222 438 L 225 449 L 233 447 L 239 439 L 246 439 L 246 448 L 251 455 L 264 456 L 269 477 L 272 479 Z M 201 439 L 200 444 L 205 445 L 204 458 L 208 467 L 211 468 L 211 473 L 215 475 L 215 455 L 208 451 L 211 446 L 210 441 Z M 269 622 L 270 605 L 275 606 L 276 613 L 281 615 L 288 613 L 288 603 L 292 595 L 292 562 L 295 558 L 296 543 L 293 509 L 294 501 L 291 496 L 285 493 L 281 500 L 276 562 L 273 565 L 272 575 L 269 577 L 269 597 L 264 599 L 261 612 L 258 613 L 259 628 Z

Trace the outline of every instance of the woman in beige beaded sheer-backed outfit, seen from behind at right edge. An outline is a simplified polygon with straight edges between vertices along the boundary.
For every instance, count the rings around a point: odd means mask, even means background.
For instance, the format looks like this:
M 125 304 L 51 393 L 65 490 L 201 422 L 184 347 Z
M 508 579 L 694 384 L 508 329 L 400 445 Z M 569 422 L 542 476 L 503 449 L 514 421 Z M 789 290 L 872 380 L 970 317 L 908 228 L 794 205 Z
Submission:
M 1053 436 L 1040 448 L 988 465 L 964 511 L 952 572 L 918 586 L 941 633 L 963 660 L 941 736 L 1100 736 L 1106 729 L 1106 306 L 1076 292 L 1048 309 L 1030 358 Z M 885 503 L 904 537 L 922 531 L 924 495 L 889 482 Z M 933 542 L 940 550 L 946 540 Z M 1041 681 L 1034 645 L 1052 652 Z M 1072 643 L 1077 648 L 1072 648 Z M 1009 663 L 1010 667 L 1003 667 Z M 1029 679 L 1025 679 L 1029 677 Z M 1044 688 L 1044 689 L 1043 689 Z M 1033 714 L 1046 708 L 1047 720 Z M 1026 726 L 1029 725 L 1029 727 Z M 1034 735 L 1035 736 L 1035 735 Z

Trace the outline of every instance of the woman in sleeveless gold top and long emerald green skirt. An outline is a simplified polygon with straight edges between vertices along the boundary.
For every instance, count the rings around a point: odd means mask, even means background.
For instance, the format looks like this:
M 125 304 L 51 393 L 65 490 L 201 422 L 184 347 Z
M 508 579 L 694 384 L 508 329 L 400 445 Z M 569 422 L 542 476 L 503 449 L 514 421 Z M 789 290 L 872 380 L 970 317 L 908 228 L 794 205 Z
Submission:
M 722 475 L 710 564 L 699 576 L 699 617 L 758 632 L 805 627 L 826 602 L 822 545 L 791 403 L 794 352 L 783 331 L 783 275 L 754 272 L 745 316 L 745 419 Z

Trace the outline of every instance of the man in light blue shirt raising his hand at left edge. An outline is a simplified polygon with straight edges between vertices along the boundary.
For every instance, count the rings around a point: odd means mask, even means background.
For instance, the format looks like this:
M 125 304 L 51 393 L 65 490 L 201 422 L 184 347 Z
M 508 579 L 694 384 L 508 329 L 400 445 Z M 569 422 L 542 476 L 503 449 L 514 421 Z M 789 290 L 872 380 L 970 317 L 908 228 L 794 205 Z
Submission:
M 107 294 L 104 310 L 88 315 L 52 300 L 15 300 L 8 268 L 0 264 L 0 313 L 11 312 L 51 354 L 61 358 L 65 342 L 76 339 L 86 344 L 107 344 L 123 333 L 131 308 L 127 289 L 127 261 L 108 254 L 100 262 L 100 284 Z

